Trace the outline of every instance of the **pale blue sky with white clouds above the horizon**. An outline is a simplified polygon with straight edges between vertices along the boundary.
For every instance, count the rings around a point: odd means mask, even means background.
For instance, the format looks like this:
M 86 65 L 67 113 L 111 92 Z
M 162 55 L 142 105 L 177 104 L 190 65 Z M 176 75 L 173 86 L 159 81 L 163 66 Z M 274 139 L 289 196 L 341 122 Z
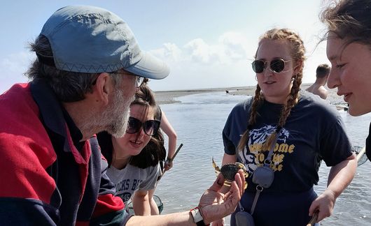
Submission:
M 152 80 L 154 91 L 252 86 L 251 69 L 259 36 L 273 27 L 297 31 L 307 48 L 304 83 L 314 82 L 316 66 L 328 63 L 322 1 L 2 1 L 0 9 L 0 93 L 23 75 L 34 59 L 27 46 L 48 17 L 67 5 L 92 5 L 119 15 L 134 32 L 142 50 L 167 61 L 165 80 Z

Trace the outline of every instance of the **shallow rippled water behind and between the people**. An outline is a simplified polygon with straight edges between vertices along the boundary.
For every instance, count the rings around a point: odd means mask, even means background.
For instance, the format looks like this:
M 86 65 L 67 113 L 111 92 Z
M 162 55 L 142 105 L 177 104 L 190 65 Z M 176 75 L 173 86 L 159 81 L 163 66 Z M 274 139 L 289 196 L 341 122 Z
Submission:
M 197 206 L 204 190 L 216 179 L 211 164 L 214 157 L 221 164 L 223 158 L 222 130 L 232 107 L 246 96 L 221 93 L 201 93 L 176 98 L 181 103 L 162 105 L 169 121 L 183 143 L 174 160 L 174 167 L 165 173 L 158 184 L 156 195 L 164 203 L 162 213 L 188 211 Z M 371 121 L 371 114 L 353 117 L 339 111 L 346 123 L 353 145 L 364 146 Z M 315 190 L 325 189 L 329 168 L 323 163 L 320 181 Z M 370 225 L 371 224 L 371 163 L 360 165 L 351 185 L 337 198 L 330 218 L 321 225 Z M 226 218 L 225 225 L 229 225 Z

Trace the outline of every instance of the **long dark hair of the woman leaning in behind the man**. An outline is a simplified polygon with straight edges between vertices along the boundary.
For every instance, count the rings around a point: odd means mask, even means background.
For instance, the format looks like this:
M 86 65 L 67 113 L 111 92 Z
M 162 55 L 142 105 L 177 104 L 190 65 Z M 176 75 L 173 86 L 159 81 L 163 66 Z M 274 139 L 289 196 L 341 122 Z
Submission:
M 160 108 L 156 105 L 153 92 L 146 84 L 142 84 L 139 87 L 131 105 L 153 107 L 155 109 L 154 119 L 161 121 Z M 106 158 L 109 166 L 111 166 L 112 161 L 114 160 L 113 158 L 115 158 L 115 155 L 113 154 L 112 136 L 107 132 L 102 132 L 97 134 L 97 139 L 104 158 Z M 163 140 L 162 132 L 158 130 L 158 133 L 151 137 L 151 140 L 137 156 L 130 157 L 129 164 L 142 169 L 158 165 L 159 161 L 162 160 L 162 149 L 164 148 Z

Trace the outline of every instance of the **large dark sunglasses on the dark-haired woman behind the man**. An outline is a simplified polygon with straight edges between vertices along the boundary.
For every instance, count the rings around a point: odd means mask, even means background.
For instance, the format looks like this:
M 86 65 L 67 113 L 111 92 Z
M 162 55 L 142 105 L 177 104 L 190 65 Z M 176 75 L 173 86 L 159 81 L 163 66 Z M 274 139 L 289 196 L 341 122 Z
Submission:
M 158 128 L 160 128 L 160 121 L 148 120 L 142 123 L 139 119 L 129 117 L 129 123 L 127 123 L 126 133 L 138 133 L 141 128 L 143 128 L 146 135 L 155 135 L 156 133 L 158 133 Z

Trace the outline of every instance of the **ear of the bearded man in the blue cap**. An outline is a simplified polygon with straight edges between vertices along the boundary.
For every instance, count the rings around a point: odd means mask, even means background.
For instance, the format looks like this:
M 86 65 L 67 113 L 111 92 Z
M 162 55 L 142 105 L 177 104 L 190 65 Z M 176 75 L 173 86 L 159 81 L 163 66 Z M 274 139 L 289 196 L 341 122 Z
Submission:
M 102 101 L 105 105 L 109 103 L 109 94 L 113 91 L 113 84 L 109 73 L 101 73 L 93 86 L 96 101 Z

